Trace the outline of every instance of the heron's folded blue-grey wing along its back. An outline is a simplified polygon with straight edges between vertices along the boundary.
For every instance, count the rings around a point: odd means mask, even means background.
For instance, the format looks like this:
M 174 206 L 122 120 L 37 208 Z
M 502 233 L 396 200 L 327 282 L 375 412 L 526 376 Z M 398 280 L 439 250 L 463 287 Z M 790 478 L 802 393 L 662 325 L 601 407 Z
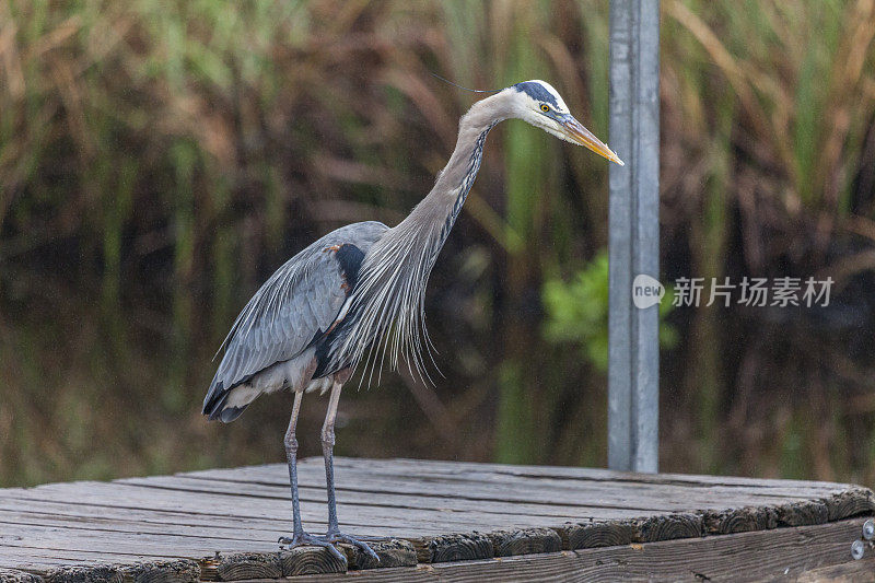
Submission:
M 332 231 L 280 267 L 243 308 L 223 342 L 225 352 L 203 400 L 218 399 L 264 369 L 300 354 L 335 323 L 349 290 L 331 247 L 366 253 L 388 228 L 369 221 Z

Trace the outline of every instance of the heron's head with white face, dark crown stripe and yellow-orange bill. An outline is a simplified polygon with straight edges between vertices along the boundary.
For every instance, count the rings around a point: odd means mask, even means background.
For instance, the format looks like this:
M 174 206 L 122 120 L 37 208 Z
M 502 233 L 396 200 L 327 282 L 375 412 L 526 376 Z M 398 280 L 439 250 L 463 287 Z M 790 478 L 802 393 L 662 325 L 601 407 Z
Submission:
M 559 92 L 546 81 L 523 81 L 504 91 L 511 92 L 514 117 L 528 121 L 557 138 L 584 145 L 621 166 L 625 165 L 610 148 L 574 119 Z

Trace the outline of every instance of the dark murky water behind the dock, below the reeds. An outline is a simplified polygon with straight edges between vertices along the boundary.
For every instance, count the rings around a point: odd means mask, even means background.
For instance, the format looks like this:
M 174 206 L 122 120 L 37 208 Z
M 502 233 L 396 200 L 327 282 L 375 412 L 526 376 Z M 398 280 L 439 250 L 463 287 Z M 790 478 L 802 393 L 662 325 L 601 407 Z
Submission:
M 497 325 L 514 303 L 493 288 L 498 261 L 477 253 L 444 252 L 432 278 L 428 322 L 444 376 L 434 387 L 404 372 L 371 389 L 353 380 L 338 453 L 490 460 L 510 451 L 516 462 L 604 465 L 604 375 L 578 347 L 541 338 L 538 308 L 515 328 Z M 282 459 L 290 396 L 259 399 L 229 425 L 199 415 L 231 323 L 213 296 L 192 289 L 180 316 L 160 282 L 152 295 L 133 279 L 107 305 L 102 282 L 65 260 L 59 252 L 57 264 L 12 266 L 0 279 L 4 486 Z M 824 308 L 676 308 L 667 323 L 679 341 L 662 358 L 662 468 L 872 483 L 872 284 L 858 276 Z M 238 305 L 248 292 L 235 293 Z M 537 289 L 528 293 L 537 305 Z M 521 387 L 512 404 L 509 385 Z M 307 455 L 319 452 L 324 407 L 304 401 Z

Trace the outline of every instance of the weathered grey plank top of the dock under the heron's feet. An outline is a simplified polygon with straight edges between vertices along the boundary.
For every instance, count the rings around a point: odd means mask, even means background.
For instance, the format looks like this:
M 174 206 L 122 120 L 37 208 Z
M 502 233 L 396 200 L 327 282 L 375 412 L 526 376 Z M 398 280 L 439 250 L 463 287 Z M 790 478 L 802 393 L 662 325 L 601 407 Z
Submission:
M 198 575 L 217 581 L 347 568 L 388 573 L 417 559 L 438 569 L 559 549 L 614 552 L 739 533 L 785 536 L 788 528 L 779 527 L 836 524 L 875 511 L 868 489 L 828 482 L 767 480 L 758 488 L 758 480 L 736 478 L 349 459 L 338 462 L 337 477 L 345 528 L 396 538 L 374 544 L 378 564 L 346 545 L 345 564 L 320 548 L 279 551 L 291 509 L 285 467 L 271 465 L 0 490 L 0 568 L 43 575 L 45 583 L 56 583 L 52 576 L 163 583 L 160 569 L 122 568 L 178 559 L 200 561 Z M 301 485 L 305 525 L 324 530 L 320 459 L 302 462 Z M 73 562 L 82 567 L 60 569 Z M 184 574 L 166 576 L 177 583 Z

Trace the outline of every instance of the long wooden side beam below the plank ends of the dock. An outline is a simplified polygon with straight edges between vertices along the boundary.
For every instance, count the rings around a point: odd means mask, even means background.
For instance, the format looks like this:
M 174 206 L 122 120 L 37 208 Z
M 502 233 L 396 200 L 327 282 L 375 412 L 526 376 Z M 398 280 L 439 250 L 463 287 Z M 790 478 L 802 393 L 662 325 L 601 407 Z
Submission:
M 794 580 L 806 572 L 872 581 L 875 553 L 860 561 L 850 557 L 851 541 L 863 521 L 851 518 L 816 526 L 780 528 L 732 536 L 665 540 L 492 560 L 434 563 L 417 568 L 376 569 L 357 573 L 360 583 L 485 580 L 540 581 L 765 581 Z M 839 567 L 841 569 L 839 570 Z M 845 579 L 847 581 L 848 579 Z M 320 575 L 307 581 L 339 581 Z M 268 583 L 268 582 L 249 582 Z

